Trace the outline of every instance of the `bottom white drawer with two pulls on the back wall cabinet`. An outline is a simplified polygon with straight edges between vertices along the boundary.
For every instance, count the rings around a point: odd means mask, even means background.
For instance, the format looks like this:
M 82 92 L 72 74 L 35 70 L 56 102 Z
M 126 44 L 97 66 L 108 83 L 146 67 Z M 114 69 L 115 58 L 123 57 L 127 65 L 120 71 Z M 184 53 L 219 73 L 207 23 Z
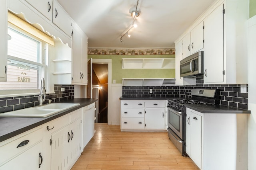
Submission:
M 144 129 L 144 117 L 122 117 L 121 129 Z

